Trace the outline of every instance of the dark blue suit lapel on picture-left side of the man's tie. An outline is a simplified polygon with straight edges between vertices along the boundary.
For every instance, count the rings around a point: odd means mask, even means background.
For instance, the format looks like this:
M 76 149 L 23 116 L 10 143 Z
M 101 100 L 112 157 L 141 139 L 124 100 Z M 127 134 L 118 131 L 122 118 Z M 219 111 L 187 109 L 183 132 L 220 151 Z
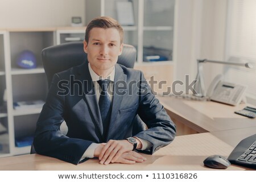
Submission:
M 79 69 L 77 70 L 79 75 L 80 81 L 84 85 L 84 94 L 85 94 L 85 100 L 88 102 L 89 110 L 92 112 L 94 122 L 96 122 L 96 125 L 98 127 L 98 130 L 100 130 L 100 133 L 103 138 L 103 126 L 101 121 L 101 114 L 100 109 L 98 107 L 98 102 L 95 94 L 95 89 L 92 81 L 92 77 L 90 76 L 89 68 L 88 68 L 88 62 L 86 61 L 84 64 L 82 64 Z M 89 117 L 86 117 L 89 118 Z

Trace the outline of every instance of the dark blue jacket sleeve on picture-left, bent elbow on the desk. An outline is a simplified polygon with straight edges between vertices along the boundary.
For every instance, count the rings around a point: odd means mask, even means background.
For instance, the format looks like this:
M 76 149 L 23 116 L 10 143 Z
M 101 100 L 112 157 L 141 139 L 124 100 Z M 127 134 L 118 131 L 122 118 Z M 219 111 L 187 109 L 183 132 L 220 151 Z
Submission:
M 61 91 L 58 88 L 59 75 L 55 74 L 52 80 L 46 104 L 36 124 L 35 151 L 38 154 L 78 164 L 92 142 L 69 138 L 60 132 L 60 125 L 64 121 L 65 96 L 57 94 Z

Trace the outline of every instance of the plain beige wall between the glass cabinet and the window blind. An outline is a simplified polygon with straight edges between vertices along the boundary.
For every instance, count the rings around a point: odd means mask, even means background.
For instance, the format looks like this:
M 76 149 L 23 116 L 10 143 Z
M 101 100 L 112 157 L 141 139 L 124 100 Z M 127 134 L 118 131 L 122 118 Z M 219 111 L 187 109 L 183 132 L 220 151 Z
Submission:
M 175 55 L 176 80 L 193 80 L 197 73 L 197 59 L 224 60 L 226 0 L 176 1 Z M 205 86 L 213 80 L 222 66 L 205 64 Z M 180 87 L 184 90 L 184 85 Z

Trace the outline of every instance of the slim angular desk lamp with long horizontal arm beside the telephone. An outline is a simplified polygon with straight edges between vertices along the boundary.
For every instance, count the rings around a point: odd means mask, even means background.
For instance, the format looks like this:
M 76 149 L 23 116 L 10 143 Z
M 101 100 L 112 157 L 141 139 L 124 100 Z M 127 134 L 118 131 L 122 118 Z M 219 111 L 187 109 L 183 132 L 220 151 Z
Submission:
M 235 65 L 246 68 L 253 68 L 253 65 L 250 63 L 236 63 L 236 62 L 226 62 L 226 61 L 215 61 L 215 60 L 207 60 L 207 59 L 198 59 L 197 60 L 197 75 L 196 75 L 196 83 L 194 86 L 195 92 L 193 93 L 197 97 L 205 97 L 205 85 L 204 85 L 204 76 L 203 76 L 203 65 L 202 63 L 217 63 L 217 64 L 228 64 Z

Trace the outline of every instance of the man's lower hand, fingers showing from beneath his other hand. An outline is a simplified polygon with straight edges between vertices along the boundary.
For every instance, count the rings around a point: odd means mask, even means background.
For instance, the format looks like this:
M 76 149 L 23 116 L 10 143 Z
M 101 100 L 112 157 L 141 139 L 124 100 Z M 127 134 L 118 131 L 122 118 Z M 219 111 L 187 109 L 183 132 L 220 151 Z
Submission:
M 146 160 L 141 154 L 130 151 L 123 153 L 115 163 L 122 163 L 122 164 L 134 164 L 134 163 L 142 163 Z

